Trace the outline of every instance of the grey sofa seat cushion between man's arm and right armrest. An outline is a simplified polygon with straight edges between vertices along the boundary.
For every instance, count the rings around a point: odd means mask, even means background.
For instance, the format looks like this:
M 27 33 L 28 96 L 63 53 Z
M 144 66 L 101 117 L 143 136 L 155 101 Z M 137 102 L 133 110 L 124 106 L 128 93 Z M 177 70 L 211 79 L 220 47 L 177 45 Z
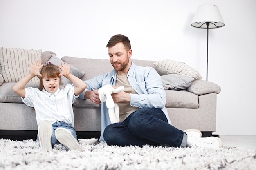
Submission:
M 188 91 L 165 90 L 166 108 L 198 108 L 198 95 Z

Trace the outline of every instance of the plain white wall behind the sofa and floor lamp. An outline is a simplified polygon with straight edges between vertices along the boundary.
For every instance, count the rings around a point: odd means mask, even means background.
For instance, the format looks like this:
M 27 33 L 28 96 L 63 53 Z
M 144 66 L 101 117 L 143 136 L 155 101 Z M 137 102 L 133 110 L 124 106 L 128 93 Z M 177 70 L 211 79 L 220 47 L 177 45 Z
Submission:
M 202 4 L 226 24 L 209 30 L 208 80 L 222 88 L 216 133 L 256 135 L 255 0 L 0 0 L 0 46 L 103 59 L 120 33 L 133 58 L 185 62 L 206 79 L 207 30 L 190 26 Z

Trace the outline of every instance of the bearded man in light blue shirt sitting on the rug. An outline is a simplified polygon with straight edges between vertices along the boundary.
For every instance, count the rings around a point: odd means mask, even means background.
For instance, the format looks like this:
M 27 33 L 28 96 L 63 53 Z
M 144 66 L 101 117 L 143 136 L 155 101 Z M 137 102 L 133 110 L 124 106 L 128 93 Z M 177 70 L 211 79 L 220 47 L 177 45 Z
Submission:
M 100 104 L 99 88 L 106 84 L 114 88 L 125 87 L 124 91 L 112 93 L 114 102 L 119 105 L 119 123 L 111 124 L 106 102 L 101 103 L 100 141 L 117 146 L 222 146 L 222 141 L 217 137 L 200 138 L 199 130 L 188 130 L 187 135 L 171 125 L 160 75 L 154 68 L 132 63 L 132 49 L 126 36 L 113 36 L 107 48 L 114 70 L 85 81 L 87 89 L 80 95 L 81 99 Z M 200 137 L 193 134 L 200 134 Z

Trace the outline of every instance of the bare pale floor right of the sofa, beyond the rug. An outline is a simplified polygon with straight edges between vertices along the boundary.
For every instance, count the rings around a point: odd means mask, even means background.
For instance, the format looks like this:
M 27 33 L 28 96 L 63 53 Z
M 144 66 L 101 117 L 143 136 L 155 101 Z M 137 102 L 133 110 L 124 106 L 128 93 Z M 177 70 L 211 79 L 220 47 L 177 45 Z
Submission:
M 220 135 L 223 146 L 256 150 L 256 135 Z

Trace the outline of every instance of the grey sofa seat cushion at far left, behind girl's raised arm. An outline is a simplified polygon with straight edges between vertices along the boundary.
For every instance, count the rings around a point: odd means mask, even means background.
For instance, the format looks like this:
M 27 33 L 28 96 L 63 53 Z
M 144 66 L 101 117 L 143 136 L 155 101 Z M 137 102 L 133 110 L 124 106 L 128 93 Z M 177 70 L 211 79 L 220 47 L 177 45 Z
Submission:
M 17 95 L 13 90 L 13 86 L 16 83 L 3 83 L 0 86 L 0 102 L 3 103 L 23 103 L 21 97 Z M 39 83 L 28 83 L 26 87 L 36 87 L 39 88 Z

